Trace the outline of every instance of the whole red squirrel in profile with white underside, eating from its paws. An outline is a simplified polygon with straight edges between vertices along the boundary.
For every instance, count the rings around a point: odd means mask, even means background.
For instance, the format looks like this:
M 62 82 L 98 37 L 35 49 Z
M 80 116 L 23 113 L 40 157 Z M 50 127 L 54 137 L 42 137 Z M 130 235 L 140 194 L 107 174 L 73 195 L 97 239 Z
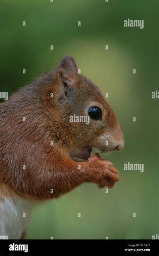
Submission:
M 70 122 L 74 115 L 89 123 Z M 0 236 L 24 237 L 38 201 L 87 182 L 112 188 L 118 170 L 97 153 L 91 157 L 92 147 L 120 151 L 123 134 L 99 88 L 65 56 L 0 104 Z

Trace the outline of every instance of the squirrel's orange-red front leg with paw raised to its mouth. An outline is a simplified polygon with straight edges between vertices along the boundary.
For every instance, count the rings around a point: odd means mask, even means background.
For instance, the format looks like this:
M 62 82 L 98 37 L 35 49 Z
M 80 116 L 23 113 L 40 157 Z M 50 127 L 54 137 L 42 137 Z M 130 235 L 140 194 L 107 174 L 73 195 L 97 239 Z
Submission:
M 57 198 L 82 183 L 96 183 L 100 188 L 113 187 L 119 181 L 118 170 L 107 160 L 101 160 L 95 154 L 88 162 L 74 162 L 64 158 L 57 162 L 53 169 L 47 172 L 39 172 L 36 182 L 27 185 L 28 190 L 21 191 L 38 200 Z

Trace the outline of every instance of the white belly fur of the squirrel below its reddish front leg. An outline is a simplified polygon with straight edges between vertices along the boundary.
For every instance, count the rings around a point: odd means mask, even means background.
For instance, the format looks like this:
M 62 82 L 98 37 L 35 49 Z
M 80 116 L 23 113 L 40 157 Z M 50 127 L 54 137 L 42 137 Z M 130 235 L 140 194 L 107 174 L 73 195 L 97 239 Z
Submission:
M 35 201 L 18 196 L 0 199 L 0 238 L 20 239 L 34 205 Z

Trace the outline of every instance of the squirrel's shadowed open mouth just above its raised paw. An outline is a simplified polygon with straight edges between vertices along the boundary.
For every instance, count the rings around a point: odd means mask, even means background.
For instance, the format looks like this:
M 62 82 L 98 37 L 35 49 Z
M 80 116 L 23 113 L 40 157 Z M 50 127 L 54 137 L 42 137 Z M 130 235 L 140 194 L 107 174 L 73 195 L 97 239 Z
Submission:
M 76 147 L 69 153 L 69 156 L 75 162 L 86 162 L 90 158 L 91 152 L 92 146 Z

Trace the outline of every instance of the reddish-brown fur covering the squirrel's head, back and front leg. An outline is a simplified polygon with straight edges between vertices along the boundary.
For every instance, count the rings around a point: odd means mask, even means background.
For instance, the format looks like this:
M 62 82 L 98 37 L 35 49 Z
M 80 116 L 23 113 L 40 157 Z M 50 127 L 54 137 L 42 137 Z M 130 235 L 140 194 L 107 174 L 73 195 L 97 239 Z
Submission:
M 81 141 L 87 145 L 92 140 L 100 148 L 95 138 L 105 127 L 108 132 L 119 129 L 114 139 L 123 140 L 115 114 L 99 88 L 76 72 L 71 59 L 69 70 L 69 65 L 65 65 L 68 58 L 65 57 L 54 72 L 40 77 L 8 102 L 0 104 L 0 183 L 32 199 L 57 198 L 84 182 L 112 187 L 119 180 L 118 171 L 109 161 L 97 157 L 76 163 L 68 156 Z M 68 88 L 63 86 L 65 81 L 69 84 L 69 98 Z M 54 94 L 53 98 L 50 93 Z M 102 105 L 102 124 L 70 124 L 69 116 L 82 115 L 88 99 Z

